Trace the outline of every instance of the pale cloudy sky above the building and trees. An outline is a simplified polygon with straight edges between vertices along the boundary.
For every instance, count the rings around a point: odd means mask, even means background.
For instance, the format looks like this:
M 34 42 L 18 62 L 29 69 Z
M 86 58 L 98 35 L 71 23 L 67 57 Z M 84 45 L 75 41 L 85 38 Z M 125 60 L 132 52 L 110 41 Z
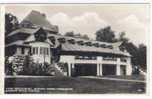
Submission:
M 87 34 L 95 39 L 95 32 L 111 26 L 116 37 L 125 32 L 136 45 L 148 45 L 150 33 L 149 4 L 50 4 L 50 5 L 7 5 L 5 11 L 23 20 L 32 10 L 45 13 L 59 32 L 69 31 Z

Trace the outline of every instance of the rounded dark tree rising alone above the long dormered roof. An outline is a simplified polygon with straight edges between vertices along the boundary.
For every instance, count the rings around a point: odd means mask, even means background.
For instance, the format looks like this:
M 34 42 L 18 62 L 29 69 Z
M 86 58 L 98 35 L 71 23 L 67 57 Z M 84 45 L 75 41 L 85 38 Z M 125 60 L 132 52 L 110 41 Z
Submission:
M 114 31 L 110 26 L 101 28 L 96 32 L 96 40 L 102 42 L 116 42 Z

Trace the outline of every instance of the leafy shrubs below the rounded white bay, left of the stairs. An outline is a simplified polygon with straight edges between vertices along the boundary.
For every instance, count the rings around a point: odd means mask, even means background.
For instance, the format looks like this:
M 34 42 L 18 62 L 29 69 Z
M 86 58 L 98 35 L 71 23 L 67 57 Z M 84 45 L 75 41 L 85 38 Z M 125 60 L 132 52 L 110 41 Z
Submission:
M 6 75 L 52 75 L 54 68 L 48 63 L 35 63 L 30 56 L 13 56 L 13 61 L 9 62 L 9 57 L 5 58 Z

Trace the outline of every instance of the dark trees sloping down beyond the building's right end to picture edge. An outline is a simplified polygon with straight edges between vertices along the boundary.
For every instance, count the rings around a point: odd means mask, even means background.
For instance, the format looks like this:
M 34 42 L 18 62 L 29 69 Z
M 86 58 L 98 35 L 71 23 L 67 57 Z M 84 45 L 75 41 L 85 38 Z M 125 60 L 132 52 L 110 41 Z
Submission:
M 125 49 L 131 54 L 133 65 L 146 70 L 146 46 L 144 44 L 140 44 L 139 47 L 137 47 L 132 42 L 129 42 L 129 39 L 125 37 L 125 34 L 125 32 L 121 32 L 119 35 L 118 41 L 122 42 L 120 49 Z

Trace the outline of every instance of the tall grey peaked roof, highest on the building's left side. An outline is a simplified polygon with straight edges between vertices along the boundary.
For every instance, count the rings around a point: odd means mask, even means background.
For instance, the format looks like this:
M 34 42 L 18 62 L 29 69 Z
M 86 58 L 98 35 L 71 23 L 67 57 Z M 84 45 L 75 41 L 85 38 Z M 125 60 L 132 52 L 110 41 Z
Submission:
M 32 25 L 43 27 L 47 30 L 58 32 L 58 27 L 52 25 L 46 18 L 45 14 L 38 11 L 31 11 L 24 19 L 21 21 L 21 25 L 30 23 Z

